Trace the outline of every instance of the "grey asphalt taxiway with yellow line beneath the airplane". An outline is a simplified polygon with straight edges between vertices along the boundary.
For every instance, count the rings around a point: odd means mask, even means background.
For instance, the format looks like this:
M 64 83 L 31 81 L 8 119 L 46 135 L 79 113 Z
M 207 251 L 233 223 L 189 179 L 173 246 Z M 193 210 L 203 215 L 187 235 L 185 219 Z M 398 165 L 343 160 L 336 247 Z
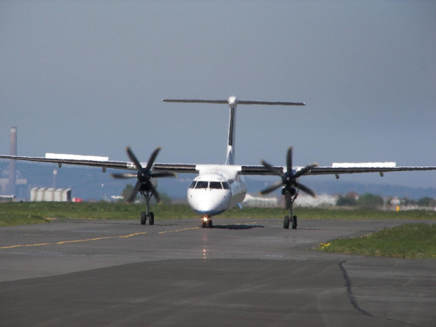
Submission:
M 0 229 L 0 326 L 434 326 L 436 261 L 310 250 L 406 221 Z M 432 222 L 430 222 L 432 223 Z

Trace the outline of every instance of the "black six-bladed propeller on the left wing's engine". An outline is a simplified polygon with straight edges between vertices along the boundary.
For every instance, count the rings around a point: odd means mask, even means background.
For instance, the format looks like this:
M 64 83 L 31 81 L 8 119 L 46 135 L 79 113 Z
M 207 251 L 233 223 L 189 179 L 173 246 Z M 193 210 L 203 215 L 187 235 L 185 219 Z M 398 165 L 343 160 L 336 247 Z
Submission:
M 136 167 L 136 174 L 134 174 L 134 173 L 122 173 L 122 174 L 110 174 L 110 176 L 117 178 L 117 179 L 129 179 L 129 178 L 134 178 L 134 177 L 136 177 L 136 179 L 138 179 L 138 181 L 136 181 L 136 185 L 135 185 L 132 193 L 130 193 L 129 198 L 127 198 L 127 203 L 131 203 L 134 200 L 136 193 L 138 193 L 139 191 L 150 192 L 155 197 L 155 199 L 158 201 L 158 203 L 160 203 L 160 196 L 158 194 L 158 191 L 156 191 L 155 186 L 151 182 L 151 179 L 158 178 L 158 177 L 177 177 L 177 175 L 174 174 L 174 172 L 152 172 L 151 171 L 151 168 L 153 167 L 153 163 L 155 162 L 155 159 L 158 156 L 160 148 L 155 148 L 153 153 L 151 153 L 150 159 L 148 159 L 146 167 L 142 167 L 141 162 L 139 162 L 139 160 L 136 158 L 132 149 L 129 146 L 127 146 L 126 151 L 127 151 L 127 155 L 129 156 L 130 160 L 132 160 L 132 162 L 134 163 L 134 165 Z

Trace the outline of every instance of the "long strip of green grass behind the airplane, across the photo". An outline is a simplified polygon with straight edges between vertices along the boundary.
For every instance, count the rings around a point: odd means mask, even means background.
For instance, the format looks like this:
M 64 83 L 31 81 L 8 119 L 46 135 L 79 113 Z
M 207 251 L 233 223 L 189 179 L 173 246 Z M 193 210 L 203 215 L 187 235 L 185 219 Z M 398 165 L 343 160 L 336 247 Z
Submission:
M 196 218 L 188 205 L 153 205 L 158 219 Z M 0 203 L 0 226 L 38 224 L 57 219 L 139 219 L 145 205 L 125 203 Z M 282 219 L 288 212 L 282 208 L 232 208 L 220 218 Z M 294 214 L 303 219 L 436 219 L 436 212 L 411 210 L 390 212 L 380 210 L 343 210 L 295 208 Z

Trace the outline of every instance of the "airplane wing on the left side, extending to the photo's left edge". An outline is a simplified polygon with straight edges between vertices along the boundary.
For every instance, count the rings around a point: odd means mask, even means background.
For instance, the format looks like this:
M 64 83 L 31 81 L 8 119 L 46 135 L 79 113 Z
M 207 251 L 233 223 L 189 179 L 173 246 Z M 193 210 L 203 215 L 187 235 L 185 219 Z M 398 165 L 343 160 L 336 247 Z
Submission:
M 133 162 L 127 161 L 109 161 L 105 157 L 96 157 L 88 155 L 53 155 L 47 154 L 46 157 L 23 157 L 18 155 L 0 155 L 0 159 L 11 160 L 26 160 L 36 162 L 53 162 L 61 167 L 65 165 L 79 165 L 90 167 L 101 167 L 103 172 L 106 168 L 112 169 L 128 169 L 136 170 Z M 146 166 L 146 164 L 144 164 Z M 175 172 L 175 173 L 192 173 L 195 174 L 198 171 L 195 169 L 196 165 L 186 164 L 158 164 L 153 165 L 154 170 L 158 172 Z

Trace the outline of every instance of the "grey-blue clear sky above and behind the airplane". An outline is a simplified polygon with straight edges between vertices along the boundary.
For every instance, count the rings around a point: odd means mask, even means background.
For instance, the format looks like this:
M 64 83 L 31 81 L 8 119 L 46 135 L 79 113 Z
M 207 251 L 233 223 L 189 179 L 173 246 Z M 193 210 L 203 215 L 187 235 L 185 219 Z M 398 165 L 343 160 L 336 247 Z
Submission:
M 0 1 L 0 153 L 436 165 L 436 1 Z M 328 177 L 307 177 L 334 179 Z M 436 187 L 436 172 L 342 181 Z

